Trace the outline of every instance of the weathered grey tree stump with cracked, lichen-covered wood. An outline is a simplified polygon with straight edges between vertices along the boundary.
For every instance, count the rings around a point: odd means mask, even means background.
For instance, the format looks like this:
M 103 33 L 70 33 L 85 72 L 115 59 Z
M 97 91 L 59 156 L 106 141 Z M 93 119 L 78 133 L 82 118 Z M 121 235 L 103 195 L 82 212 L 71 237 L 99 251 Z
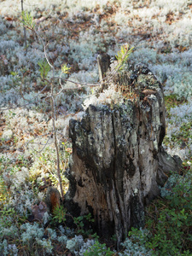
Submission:
M 113 81 L 132 86 L 137 98 L 113 108 L 90 105 L 81 121 L 71 119 L 66 207 L 72 214 L 91 212 L 98 234 L 115 234 L 119 247 L 132 226 L 143 227 L 144 205 L 159 195 L 164 172 L 178 165 L 161 147 L 165 104 L 154 74 L 137 65 Z

